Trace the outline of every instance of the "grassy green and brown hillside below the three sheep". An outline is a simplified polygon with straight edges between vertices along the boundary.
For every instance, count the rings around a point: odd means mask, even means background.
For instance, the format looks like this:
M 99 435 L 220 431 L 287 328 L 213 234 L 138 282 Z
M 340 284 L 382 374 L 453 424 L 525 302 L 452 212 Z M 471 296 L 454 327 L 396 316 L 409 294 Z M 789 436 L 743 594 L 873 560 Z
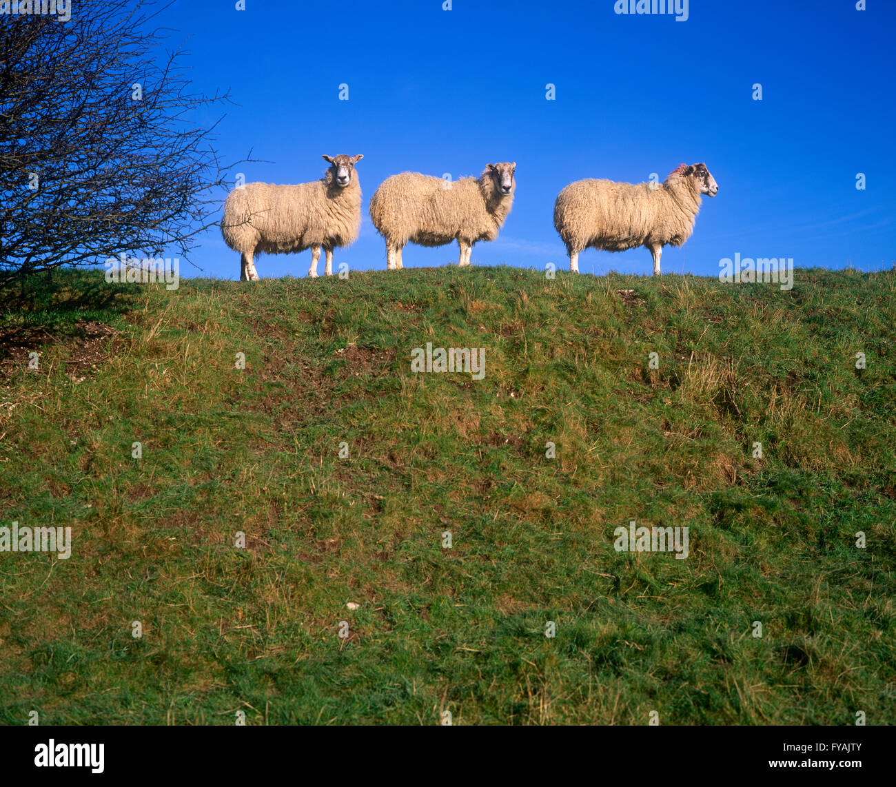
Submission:
M 894 272 L 30 288 L 0 526 L 72 556 L 0 552 L 0 722 L 896 719 Z

